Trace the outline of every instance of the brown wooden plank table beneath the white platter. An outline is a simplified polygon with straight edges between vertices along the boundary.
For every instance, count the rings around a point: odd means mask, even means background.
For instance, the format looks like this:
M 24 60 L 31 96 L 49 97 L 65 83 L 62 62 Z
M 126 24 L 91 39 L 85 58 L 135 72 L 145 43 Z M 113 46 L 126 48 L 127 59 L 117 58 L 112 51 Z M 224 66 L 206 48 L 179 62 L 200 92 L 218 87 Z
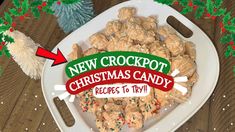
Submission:
M 122 0 L 124 1 L 124 0 Z M 96 14 L 122 2 L 121 0 L 94 0 Z M 227 9 L 233 0 L 226 0 Z M 10 0 L 5 0 L 0 6 L 0 15 L 12 7 Z M 180 9 L 179 7 L 174 7 Z M 233 15 L 234 12 L 233 12 Z M 224 58 L 225 46 L 219 43 L 221 36 L 218 28 L 219 18 L 195 20 L 193 14 L 187 17 L 201 27 L 213 40 L 220 56 L 221 70 L 216 90 L 205 105 L 182 127 L 178 132 L 210 132 L 235 131 L 235 85 L 232 68 L 234 59 Z M 42 14 L 41 19 L 28 19 L 17 22 L 17 29 L 30 36 L 35 42 L 46 49 L 53 49 L 66 34 L 58 27 L 56 18 L 52 15 Z M 59 131 L 43 98 L 40 80 L 31 80 L 12 60 L 0 58 L 0 65 L 4 69 L 0 77 L 0 131 Z M 203 92 L 203 91 L 202 91 Z M 223 109 L 224 108 L 224 109 Z M 234 125 L 233 125 L 234 124 Z M 79 130 L 78 130 L 79 131 Z

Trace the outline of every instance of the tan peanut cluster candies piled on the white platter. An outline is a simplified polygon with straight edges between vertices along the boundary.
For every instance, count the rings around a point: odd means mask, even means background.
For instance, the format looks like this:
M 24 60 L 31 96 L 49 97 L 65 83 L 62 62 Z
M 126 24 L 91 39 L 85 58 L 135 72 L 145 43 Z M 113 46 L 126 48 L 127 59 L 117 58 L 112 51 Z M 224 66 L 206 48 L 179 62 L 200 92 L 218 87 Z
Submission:
M 72 47 L 72 60 L 104 51 L 133 51 L 152 54 L 167 59 L 171 72 L 179 70 L 178 76 L 188 81 L 178 83 L 187 89 L 182 94 L 177 89 L 163 92 L 152 88 L 146 97 L 95 98 L 92 90 L 78 95 L 83 111 L 96 115 L 96 126 L 101 132 L 118 132 L 123 125 L 140 129 L 144 122 L 159 115 L 161 108 L 185 102 L 197 82 L 196 50 L 192 42 L 184 41 L 170 26 L 159 26 L 157 17 L 136 15 L 133 7 L 119 10 L 118 19 L 107 23 L 104 30 L 89 38 L 92 48 L 82 52 L 78 45 Z

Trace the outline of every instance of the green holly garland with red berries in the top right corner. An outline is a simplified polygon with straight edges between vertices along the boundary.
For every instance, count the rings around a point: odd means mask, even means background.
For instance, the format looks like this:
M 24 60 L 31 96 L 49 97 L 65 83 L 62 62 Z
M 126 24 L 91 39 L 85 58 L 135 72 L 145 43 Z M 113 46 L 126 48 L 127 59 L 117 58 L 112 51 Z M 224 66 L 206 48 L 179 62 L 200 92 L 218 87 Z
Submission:
M 225 58 L 235 57 L 235 18 L 231 16 L 231 11 L 222 7 L 223 0 L 154 0 L 166 5 L 181 5 L 181 13 L 187 14 L 195 11 L 195 18 L 207 17 L 215 20 L 222 17 L 219 27 L 223 36 L 220 38 L 221 44 L 227 46 L 224 53 Z M 233 66 L 235 75 L 235 66 Z

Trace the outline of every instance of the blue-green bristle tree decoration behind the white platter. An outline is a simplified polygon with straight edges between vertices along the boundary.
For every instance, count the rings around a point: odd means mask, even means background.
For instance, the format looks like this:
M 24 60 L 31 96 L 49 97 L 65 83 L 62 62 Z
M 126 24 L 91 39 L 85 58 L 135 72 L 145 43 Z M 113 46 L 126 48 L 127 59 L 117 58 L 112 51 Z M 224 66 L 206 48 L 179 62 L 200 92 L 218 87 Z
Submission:
M 65 33 L 76 30 L 94 16 L 91 0 L 81 0 L 70 4 L 54 3 L 52 10 Z

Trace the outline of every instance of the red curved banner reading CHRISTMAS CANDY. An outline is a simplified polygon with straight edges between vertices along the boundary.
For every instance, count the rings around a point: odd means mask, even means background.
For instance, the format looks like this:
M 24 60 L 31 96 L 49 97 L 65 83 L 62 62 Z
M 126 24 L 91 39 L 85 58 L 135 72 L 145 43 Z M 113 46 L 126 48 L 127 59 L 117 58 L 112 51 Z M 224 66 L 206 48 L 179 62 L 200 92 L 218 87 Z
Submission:
M 169 91 L 173 88 L 174 79 L 147 68 L 115 66 L 80 74 L 66 83 L 66 89 L 70 94 L 76 95 L 97 85 L 115 83 L 145 83 L 150 87 Z

